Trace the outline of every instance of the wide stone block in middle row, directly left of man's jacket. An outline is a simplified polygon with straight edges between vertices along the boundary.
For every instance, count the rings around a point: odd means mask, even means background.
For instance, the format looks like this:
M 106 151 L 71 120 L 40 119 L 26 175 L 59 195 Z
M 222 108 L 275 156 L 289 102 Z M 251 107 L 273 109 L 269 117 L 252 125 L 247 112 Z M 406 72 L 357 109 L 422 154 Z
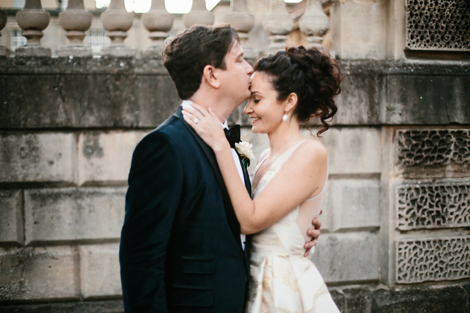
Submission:
M 122 187 L 25 190 L 26 244 L 118 239 L 125 192 Z

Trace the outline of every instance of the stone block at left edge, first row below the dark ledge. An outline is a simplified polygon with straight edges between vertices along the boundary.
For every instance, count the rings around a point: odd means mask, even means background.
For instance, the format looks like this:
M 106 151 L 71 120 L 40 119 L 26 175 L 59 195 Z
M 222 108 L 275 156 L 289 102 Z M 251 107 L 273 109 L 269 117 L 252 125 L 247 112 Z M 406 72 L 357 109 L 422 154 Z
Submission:
M 71 133 L 0 134 L 0 182 L 72 182 Z

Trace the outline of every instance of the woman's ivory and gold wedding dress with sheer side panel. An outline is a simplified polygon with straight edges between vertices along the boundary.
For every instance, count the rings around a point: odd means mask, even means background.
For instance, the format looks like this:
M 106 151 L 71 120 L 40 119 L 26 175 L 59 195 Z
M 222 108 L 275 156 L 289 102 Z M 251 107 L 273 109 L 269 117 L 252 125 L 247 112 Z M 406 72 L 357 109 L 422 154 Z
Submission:
M 253 198 L 303 142 L 274 161 L 259 180 Z M 261 154 L 252 180 L 268 153 L 269 149 Z M 297 221 L 302 205 L 309 205 L 308 211 L 312 208 L 318 215 L 322 198 L 323 190 L 306 200 L 309 203 L 302 203 L 276 224 L 253 235 L 248 313 L 339 313 L 317 268 L 304 257 L 305 238 Z

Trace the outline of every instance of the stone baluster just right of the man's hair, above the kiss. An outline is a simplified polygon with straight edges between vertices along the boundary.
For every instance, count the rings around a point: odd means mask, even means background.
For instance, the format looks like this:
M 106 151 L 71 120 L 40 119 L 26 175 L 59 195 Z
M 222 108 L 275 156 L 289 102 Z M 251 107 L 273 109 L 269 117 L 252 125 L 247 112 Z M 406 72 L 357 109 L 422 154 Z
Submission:
M 245 52 L 245 59 L 255 61 L 258 55 L 253 48 L 247 45 L 248 32 L 255 24 L 255 17 L 248 12 L 246 0 L 232 0 L 230 2 L 230 11 L 225 15 L 224 22 L 232 25 L 238 32 L 240 44 Z

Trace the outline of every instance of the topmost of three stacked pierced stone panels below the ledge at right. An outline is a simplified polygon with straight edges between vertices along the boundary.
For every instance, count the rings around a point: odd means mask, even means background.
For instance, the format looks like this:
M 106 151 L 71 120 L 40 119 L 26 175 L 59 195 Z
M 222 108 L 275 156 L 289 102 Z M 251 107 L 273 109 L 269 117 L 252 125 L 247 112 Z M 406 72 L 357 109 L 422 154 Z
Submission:
M 398 165 L 470 164 L 470 130 L 399 130 Z

